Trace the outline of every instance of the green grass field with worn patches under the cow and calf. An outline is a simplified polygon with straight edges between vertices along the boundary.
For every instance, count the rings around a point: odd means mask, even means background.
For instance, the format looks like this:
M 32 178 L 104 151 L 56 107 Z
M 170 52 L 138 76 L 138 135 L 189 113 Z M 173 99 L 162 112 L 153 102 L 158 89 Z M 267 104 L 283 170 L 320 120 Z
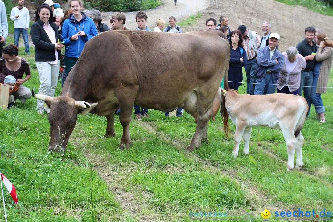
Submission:
M 23 52 L 21 47 L 19 56 L 31 62 L 32 72 L 24 85 L 38 92 L 34 50 L 30 56 Z M 312 107 L 302 129 L 304 166 L 290 172 L 281 130 L 253 128 L 250 155 L 239 152 L 233 158 L 235 127 L 229 121 L 230 138 L 225 138 L 221 117 L 216 116 L 208 125 L 209 142 L 188 152 L 184 148 L 195 131 L 193 117 L 184 113 L 168 118 L 155 110 L 149 111 L 149 119 L 132 120 L 134 145 L 128 150 L 119 149 L 118 116 L 116 137 L 103 138 L 106 118 L 88 114 L 78 116 L 66 153 L 51 154 L 47 115 L 37 114 L 34 98 L 25 104 L 18 101 L 15 108 L 0 111 L 0 170 L 19 198 L 14 205 L 4 190 L 8 221 L 235 221 L 235 213 L 245 212 L 252 221 L 261 221 L 264 209 L 271 212 L 269 220 L 276 221 L 275 211 L 332 212 L 332 75 L 322 95 L 327 122 L 319 124 Z M 56 95 L 60 86 L 59 79 Z M 201 211 L 224 216 L 189 216 Z

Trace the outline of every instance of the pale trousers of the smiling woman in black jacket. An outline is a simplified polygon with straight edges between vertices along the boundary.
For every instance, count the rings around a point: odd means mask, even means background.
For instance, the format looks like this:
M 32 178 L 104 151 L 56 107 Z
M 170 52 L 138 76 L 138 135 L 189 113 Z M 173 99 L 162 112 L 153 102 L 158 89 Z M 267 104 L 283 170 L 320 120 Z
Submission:
M 44 95 L 54 97 L 54 92 L 58 84 L 59 64 L 60 60 L 58 60 L 56 65 L 51 65 L 48 62 L 36 62 L 39 82 L 41 83 L 38 94 L 43 92 Z M 37 100 L 37 112 L 42 113 L 43 111 L 49 112 L 50 108 L 44 104 L 44 101 Z

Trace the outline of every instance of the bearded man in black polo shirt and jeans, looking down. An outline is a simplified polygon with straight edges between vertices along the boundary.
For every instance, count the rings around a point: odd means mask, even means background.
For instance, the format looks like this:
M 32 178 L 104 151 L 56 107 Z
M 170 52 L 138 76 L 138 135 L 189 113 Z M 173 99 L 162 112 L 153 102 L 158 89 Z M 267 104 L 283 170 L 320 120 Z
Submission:
M 299 95 L 302 95 L 304 89 L 304 98 L 311 106 L 311 86 L 313 82 L 313 68 L 315 66 L 315 56 L 317 52 L 316 43 L 313 41 L 316 34 L 316 29 L 312 26 L 305 28 L 305 39 L 300 41 L 296 48 L 306 60 L 306 67 L 301 72 L 301 85 L 299 87 Z

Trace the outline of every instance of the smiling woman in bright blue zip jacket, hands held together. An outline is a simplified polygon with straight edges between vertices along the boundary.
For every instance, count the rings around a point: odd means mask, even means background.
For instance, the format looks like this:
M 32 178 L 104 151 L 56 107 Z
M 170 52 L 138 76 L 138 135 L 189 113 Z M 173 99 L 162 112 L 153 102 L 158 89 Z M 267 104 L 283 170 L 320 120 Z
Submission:
M 80 57 L 86 42 L 98 34 L 94 21 L 81 12 L 82 2 L 70 0 L 69 3 L 72 14 L 65 20 L 61 34 L 63 44 L 66 46 L 64 58 L 66 74 L 62 77 L 63 82 Z

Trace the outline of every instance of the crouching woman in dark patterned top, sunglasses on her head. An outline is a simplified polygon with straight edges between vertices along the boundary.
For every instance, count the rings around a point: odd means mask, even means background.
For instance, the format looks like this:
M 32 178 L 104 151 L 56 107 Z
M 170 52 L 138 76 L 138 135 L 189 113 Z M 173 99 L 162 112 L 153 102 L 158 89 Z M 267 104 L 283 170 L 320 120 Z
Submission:
M 30 68 L 27 61 L 19 56 L 17 46 L 10 44 L 2 49 L 2 57 L 0 58 L 0 83 L 4 82 L 6 76 L 13 76 L 16 79 L 16 84 L 20 85 L 19 89 L 12 93 L 15 99 L 21 100 L 24 103 L 31 97 L 31 91 L 22 86 L 30 77 Z M 23 74 L 25 77 L 23 78 Z

